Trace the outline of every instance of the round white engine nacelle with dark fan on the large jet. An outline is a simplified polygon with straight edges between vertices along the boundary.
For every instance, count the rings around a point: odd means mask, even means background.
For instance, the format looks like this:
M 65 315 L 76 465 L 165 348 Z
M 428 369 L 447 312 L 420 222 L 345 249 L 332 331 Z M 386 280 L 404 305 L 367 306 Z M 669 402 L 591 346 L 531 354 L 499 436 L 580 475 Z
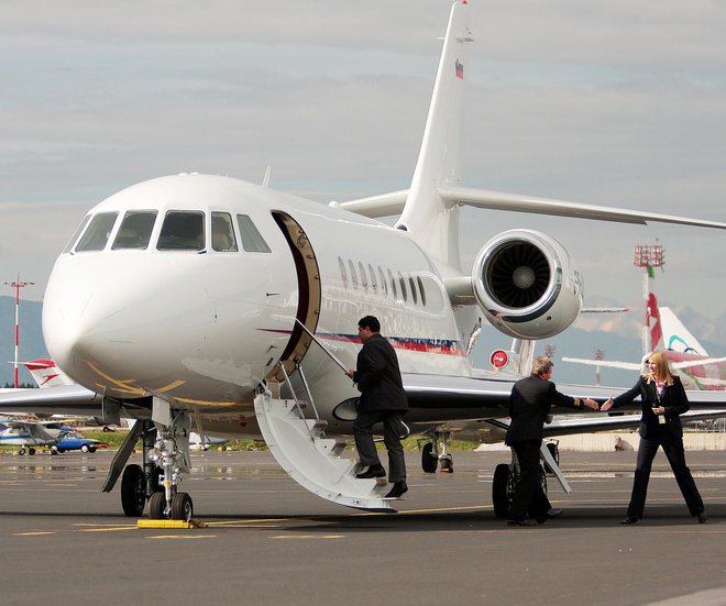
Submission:
M 582 280 L 570 253 L 532 230 L 490 240 L 474 261 L 472 286 L 487 320 L 517 339 L 558 334 L 582 307 Z

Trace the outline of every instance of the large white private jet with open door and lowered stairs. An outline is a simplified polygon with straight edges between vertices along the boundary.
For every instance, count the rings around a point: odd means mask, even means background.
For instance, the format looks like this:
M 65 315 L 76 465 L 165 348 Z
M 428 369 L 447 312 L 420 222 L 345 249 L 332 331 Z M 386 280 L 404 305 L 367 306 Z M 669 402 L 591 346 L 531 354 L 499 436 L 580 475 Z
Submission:
M 351 433 L 359 395 L 339 363 L 354 366 L 356 322 L 369 313 L 398 352 L 414 431 L 506 417 L 514 377 L 482 376 L 468 356 L 482 319 L 517 340 L 547 338 L 578 317 L 582 282 L 559 242 L 529 230 L 494 235 L 471 271 L 462 268 L 461 205 L 726 229 L 463 187 L 472 40 L 468 3 L 459 0 L 406 191 L 326 207 L 266 183 L 190 173 L 141 183 L 90 210 L 55 263 L 43 307 L 48 351 L 79 386 L 13 401 L 36 411 L 100 409 L 107 422 L 139 419 L 105 486 L 111 489 L 142 439 L 143 466 L 123 471 L 127 515 L 140 516 L 148 502 L 152 518 L 191 517 L 191 498 L 178 489 L 191 429 L 264 438 L 290 476 L 320 497 L 391 510 L 384 487 L 355 478 L 339 438 Z M 395 227 L 374 220 L 398 213 Z M 695 405 L 726 404 L 698 396 Z

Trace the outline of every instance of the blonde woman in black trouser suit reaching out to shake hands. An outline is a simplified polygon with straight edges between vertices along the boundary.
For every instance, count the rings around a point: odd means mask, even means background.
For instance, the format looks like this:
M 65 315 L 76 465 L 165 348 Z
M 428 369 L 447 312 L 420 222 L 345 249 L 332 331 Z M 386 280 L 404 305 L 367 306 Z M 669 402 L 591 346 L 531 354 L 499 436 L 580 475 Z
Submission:
M 683 494 L 685 504 L 692 516 L 698 518 L 698 524 L 706 521 L 703 499 L 698 494 L 691 470 L 685 464 L 683 452 L 683 428 L 679 415 L 690 406 L 681 379 L 671 374 L 668 357 L 663 352 L 654 352 L 647 362 L 649 372 L 638 379 L 638 383 L 625 394 L 615 399 L 609 398 L 601 410 L 617 408 L 631 403 L 640 396 L 642 417 L 640 418 L 640 445 L 638 447 L 638 464 L 632 481 L 632 495 L 628 505 L 628 515 L 620 524 L 637 524 L 642 518 L 648 492 L 650 467 L 658 452 L 663 448 L 673 475 Z

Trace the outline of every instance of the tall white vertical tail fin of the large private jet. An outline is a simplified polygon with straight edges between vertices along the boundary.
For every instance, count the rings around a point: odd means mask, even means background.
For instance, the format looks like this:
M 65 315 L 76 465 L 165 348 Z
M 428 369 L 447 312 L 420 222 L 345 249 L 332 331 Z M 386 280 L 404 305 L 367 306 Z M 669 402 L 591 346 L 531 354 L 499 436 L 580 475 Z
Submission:
M 464 78 L 469 52 L 469 5 L 451 7 L 439 71 L 406 206 L 396 223 L 429 254 L 459 268 L 459 212 L 439 196 L 442 186 L 461 180 Z

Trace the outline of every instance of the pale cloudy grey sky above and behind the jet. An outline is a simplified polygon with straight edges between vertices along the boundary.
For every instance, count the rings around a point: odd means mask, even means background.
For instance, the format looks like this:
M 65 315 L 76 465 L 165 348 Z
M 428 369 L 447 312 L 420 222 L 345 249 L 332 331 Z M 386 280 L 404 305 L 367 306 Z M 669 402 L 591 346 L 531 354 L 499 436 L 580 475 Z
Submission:
M 3 1 L 0 285 L 41 300 L 84 214 L 156 176 L 270 165 L 320 202 L 408 187 L 450 5 Z M 726 3 L 470 5 L 464 185 L 726 221 Z M 632 249 L 658 240 L 661 304 L 726 338 L 724 231 L 463 209 L 463 258 L 520 227 L 572 253 L 590 306 L 639 309 Z

